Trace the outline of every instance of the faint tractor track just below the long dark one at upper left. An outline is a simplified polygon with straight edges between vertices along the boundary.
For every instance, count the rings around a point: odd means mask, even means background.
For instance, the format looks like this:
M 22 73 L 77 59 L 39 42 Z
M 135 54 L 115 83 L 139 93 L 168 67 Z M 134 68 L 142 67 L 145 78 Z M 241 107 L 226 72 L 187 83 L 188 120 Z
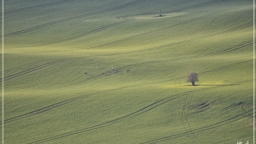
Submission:
M 104 29 L 108 29 L 108 28 L 111 28 L 111 27 L 113 27 L 113 26 L 117 26 L 117 25 L 119 25 L 119 24 L 124 24 L 125 22 L 129 22 L 129 21 L 131 21 L 131 20 L 124 20 L 124 21 L 122 21 L 122 22 L 116 22 L 116 23 L 113 23 L 113 24 L 109 24 L 109 25 L 107 25 L 107 26 L 103 26 L 103 27 L 98 28 L 98 29 L 94 29 L 93 31 L 90 31 L 90 32 L 88 32 L 88 33 L 84 33 L 84 34 L 81 34 L 81 35 L 73 36 L 73 37 L 71 37 L 71 38 L 66 38 L 66 39 L 64 39 L 64 40 L 58 40 L 58 41 L 55 41 L 55 42 L 49 42 L 49 43 L 47 43 L 47 44 L 31 45 L 31 46 L 29 46 L 29 47 L 36 47 L 36 46 L 42 46 L 42 45 L 56 44 L 56 43 L 59 43 L 59 42 L 67 42 L 67 41 L 69 41 L 69 40 L 75 40 L 75 39 L 77 39 L 77 38 L 81 38 L 81 37 L 83 37 L 83 36 L 92 35 L 92 34 L 94 34 L 94 33 L 98 33 L 98 32 L 100 32 L 100 31 L 103 31 Z

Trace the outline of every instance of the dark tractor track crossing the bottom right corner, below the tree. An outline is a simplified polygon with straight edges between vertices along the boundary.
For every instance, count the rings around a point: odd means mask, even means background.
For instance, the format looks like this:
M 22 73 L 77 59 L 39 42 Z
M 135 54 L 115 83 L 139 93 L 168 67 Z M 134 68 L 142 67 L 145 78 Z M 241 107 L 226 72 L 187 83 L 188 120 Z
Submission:
M 223 120 L 221 122 L 212 124 L 212 125 L 207 125 L 207 126 L 204 126 L 204 127 L 200 127 L 198 129 L 193 129 L 193 130 L 188 131 L 188 132 L 181 132 L 179 134 L 173 134 L 173 135 L 170 135 L 170 136 L 166 136 L 164 138 L 159 138 L 159 139 L 156 139 L 156 140 L 146 141 L 146 142 L 143 142 L 143 143 L 160 143 L 160 142 L 163 142 L 163 141 L 168 141 L 168 140 L 173 140 L 175 138 L 180 138 L 182 136 L 189 136 L 190 134 L 195 134 L 197 132 L 203 132 L 203 131 L 211 130 L 211 129 L 214 129 L 216 127 L 220 127 L 222 125 L 227 125 L 227 124 L 230 124 L 232 122 L 236 122 L 237 120 L 241 120 L 243 118 L 246 118 L 246 117 L 252 116 L 252 115 L 253 115 L 253 109 L 251 109 L 250 111 L 246 111 L 245 113 L 242 113 L 240 115 L 229 118 L 227 120 Z M 140 143 L 140 144 L 143 144 L 143 143 Z

